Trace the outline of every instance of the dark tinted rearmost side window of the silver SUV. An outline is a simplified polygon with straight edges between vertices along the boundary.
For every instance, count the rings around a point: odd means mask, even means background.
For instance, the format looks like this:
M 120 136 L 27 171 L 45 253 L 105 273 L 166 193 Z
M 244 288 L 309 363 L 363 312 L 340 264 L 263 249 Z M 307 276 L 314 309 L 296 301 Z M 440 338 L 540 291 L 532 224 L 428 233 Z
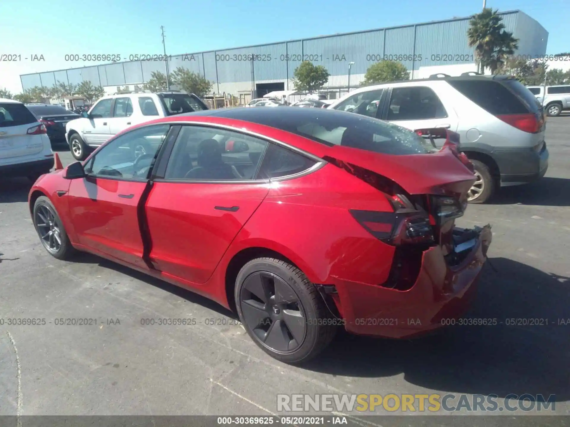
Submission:
M 534 98 L 532 102 L 526 101 L 523 103 L 518 96 L 509 91 L 506 86 L 503 86 L 498 81 L 450 80 L 449 84 L 494 116 L 499 114 L 529 113 L 533 109 L 534 112 L 536 112 L 539 106 L 538 101 L 528 92 L 527 88 L 516 80 L 509 80 L 508 82 L 518 83 L 524 89 L 524 91 L 520 90 L 520 92 L 523 94 L 526 92 L 528 97 Z M 511 87 L 514 89 L 517 88 L 516 85 L 511 85 Z

